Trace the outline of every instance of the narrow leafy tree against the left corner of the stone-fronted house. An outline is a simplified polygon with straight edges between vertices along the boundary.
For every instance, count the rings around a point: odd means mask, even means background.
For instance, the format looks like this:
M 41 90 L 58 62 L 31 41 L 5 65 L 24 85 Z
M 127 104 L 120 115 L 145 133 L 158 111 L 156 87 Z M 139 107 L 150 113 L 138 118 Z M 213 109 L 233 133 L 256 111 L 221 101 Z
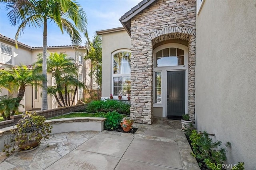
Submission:
M 92 42 L 88 37 L 88 32 L 85 32 L 86 37 L 86 49 L 88 50 L 88 54 L 84 57 L 85 60 L 91 61 L 91 68 L 90 68 L 90 77 L 91 77 L 91 84 L 90 88 L 92 89 L 92 78 L 96 79 L 97 82 L 97 94 L 98 99 L 99 89 L 101 88 L 101 63 L 102 63 L 102 37 L 100 35 L 95 34 L 93 37 Z

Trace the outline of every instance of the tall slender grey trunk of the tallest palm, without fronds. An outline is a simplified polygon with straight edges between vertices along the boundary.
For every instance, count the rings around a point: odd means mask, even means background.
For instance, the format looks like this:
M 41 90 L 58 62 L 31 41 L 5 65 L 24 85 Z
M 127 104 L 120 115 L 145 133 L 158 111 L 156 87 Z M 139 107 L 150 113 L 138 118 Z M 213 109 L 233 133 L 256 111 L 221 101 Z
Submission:
M 43 88 L 42 88 L 42 108 L 41 110 L 48 109 L 47 103 L 47 63 L 46 63 L 46 53 L 47 53 L 47 19 L 44 18 L 44 33 L 43 33 L 43 63 L 42 63 L 42 73 L 45 77 L 43 80 Z

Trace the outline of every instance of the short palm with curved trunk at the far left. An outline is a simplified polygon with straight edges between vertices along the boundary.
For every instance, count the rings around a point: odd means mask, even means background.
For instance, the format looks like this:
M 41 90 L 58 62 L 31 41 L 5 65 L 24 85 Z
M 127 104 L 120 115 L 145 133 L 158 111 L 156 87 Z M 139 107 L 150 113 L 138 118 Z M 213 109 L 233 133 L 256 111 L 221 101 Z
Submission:
M 26 86 L 41 86 L 42 81 L 46 81 L 42 74 L 36 73 L 34 69 L 30 70 L 24 65 L 0 70 L 0 87 L 9 91 L 18 90 L 18 103 L 24 97 Z

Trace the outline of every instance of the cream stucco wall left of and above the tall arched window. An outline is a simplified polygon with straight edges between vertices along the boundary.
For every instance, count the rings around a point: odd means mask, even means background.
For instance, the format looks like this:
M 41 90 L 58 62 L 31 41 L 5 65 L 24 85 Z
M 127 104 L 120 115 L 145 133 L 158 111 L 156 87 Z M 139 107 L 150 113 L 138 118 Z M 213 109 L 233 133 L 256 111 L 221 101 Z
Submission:
M 130 47 L 131 38 L 125 30 L 102 34 L 102 97 L 111 94 L 111 54 Z

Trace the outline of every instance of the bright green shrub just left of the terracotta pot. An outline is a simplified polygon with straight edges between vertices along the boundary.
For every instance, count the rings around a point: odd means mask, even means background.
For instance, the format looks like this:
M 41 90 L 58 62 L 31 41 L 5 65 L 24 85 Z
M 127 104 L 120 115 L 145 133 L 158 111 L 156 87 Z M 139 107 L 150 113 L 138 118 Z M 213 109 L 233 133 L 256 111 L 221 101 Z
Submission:
M 104 129 L 117 129 L 120 126 L 120 122 L 122 120 L 122 115 L 120 115 L 116 111 L 108 111 L 105 112 L 98 112 L 95 114 L 95 117 L 106 117 L 106 121 L 104 121 Z

